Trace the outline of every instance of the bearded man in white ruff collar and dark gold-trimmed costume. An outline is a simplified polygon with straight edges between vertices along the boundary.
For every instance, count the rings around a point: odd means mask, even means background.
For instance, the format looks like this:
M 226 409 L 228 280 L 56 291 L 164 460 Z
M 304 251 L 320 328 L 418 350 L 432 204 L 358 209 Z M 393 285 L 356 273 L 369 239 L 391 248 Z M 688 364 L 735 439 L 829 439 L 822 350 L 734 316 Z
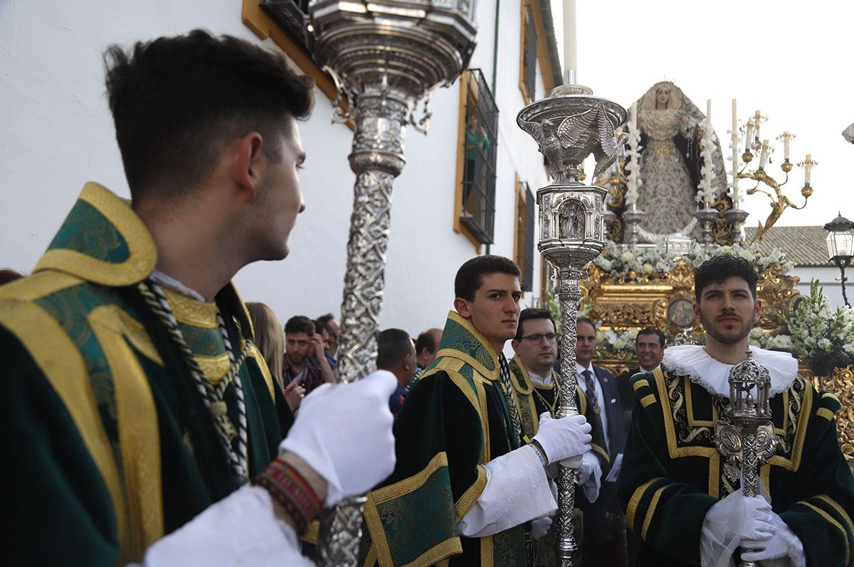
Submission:
M 643 541 L 637 564 L 850 565 L 854 479 L 839 449 L 836 396 L 816 391 L 783 352 L 749 347 L 762 311 L 757 273 L 744 258 L 712 257 L 694 271 L 694 314 L 705 346 L 671 346 L 652 373 L 632 378 L 635 404 L 619 495 Z M 728 376 L 748 352 L 770 373 L 780 445 L 758 476 L 769 502 L 746 497 L 740 467 L 717 450 L 729 417 Z M 746 551 L 750 550 L 750 551 Z

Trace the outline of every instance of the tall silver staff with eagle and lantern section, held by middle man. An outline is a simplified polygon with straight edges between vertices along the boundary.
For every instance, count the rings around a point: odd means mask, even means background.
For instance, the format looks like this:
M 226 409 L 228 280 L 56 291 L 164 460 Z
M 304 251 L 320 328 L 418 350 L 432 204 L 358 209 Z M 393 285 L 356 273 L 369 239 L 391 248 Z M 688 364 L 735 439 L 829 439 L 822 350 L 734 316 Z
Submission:
M 626 109 L 593 95 L 581 85 L 567 84 L 518 113 L 516 122 L 540 145 L 554 182 L 537 191 L 540 205 L 540 241 L 537 248 L 557 270 L 561 315 L 560 387 L 558 417 L 577 415 L 576 317 L 584 267 L 605 246 L 607 189 L 578 181 L 582 162 L 596 159 L 595 179 L 617 157 L 615 129 L 626 121 Z M 558 557 L 570 567 L 578 545 L 573 534 L 576 469 L 560 467 L 558 483 Z

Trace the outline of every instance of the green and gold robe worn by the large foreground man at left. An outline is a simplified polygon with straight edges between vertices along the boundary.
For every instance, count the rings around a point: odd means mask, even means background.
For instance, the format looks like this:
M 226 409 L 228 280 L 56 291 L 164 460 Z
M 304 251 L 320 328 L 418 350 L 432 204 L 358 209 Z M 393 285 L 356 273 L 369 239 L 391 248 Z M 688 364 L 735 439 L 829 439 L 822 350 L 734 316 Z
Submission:
M 89 183 L 34 273 L 0 287 L 0 564 L 139 560 L 237 489 L 187 363 L 137 291 L 155 263 L 142 221 Z M 234 288 L 216 300 L 231 344 L 246 344 Z M 182 327 L 194 353 L 217 354 L 210 329 Z M 256 348 L 239 375 L 252 476 L 293 418 Z M 237 423 L 233 384 L 225 400 Z

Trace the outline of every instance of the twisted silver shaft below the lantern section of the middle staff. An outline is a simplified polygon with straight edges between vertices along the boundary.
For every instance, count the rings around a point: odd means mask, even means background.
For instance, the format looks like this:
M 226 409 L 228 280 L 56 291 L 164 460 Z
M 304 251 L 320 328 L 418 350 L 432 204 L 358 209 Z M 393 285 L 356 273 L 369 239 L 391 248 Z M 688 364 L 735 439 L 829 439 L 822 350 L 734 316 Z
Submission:
M 558 271 L 560 300 L 560 402 L 558 418 L 578 415 L 576 400 L 576 318 L 581 300 L 581 268 L 560 268 Z M 578 471 L 560 466 L 558 477 L 558 549 L 561 567 L 572 567 L 578 543 L 575 537 L 576 480 Z

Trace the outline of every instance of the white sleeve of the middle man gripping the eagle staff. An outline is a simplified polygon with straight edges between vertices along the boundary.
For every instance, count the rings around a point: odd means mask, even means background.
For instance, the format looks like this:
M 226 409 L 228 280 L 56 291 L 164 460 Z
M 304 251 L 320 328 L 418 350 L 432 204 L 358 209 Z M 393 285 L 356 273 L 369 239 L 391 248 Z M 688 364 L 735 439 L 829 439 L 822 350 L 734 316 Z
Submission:
M 522 447 L 490 460 L 486 488 L 459 521 L 459 533 L 483 537 L 550 516 L 558 503 L 549 488 L 546 471 L 535 448 Z

